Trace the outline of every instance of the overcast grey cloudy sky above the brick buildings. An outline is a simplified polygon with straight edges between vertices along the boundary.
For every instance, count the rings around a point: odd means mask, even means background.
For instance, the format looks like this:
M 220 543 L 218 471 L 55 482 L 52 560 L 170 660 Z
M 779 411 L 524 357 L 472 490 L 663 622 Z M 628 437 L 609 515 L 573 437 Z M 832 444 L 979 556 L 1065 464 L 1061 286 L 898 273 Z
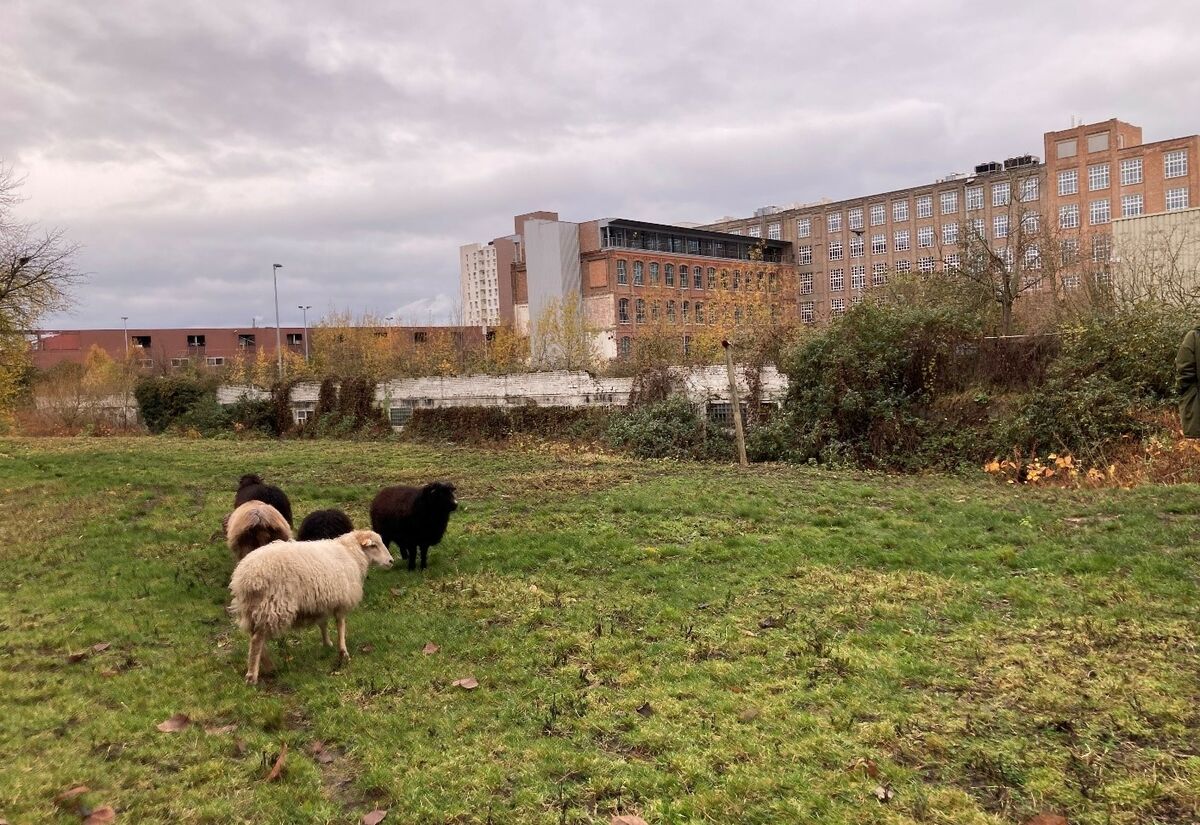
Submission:
M 1134 13 L 1136 12 L 1136 13 Z M 0 163 L 80 245 L 50 329 L 449 323 L 512 216 L 712 222 L 1200 132 L 1200 4 L 5 0 Z

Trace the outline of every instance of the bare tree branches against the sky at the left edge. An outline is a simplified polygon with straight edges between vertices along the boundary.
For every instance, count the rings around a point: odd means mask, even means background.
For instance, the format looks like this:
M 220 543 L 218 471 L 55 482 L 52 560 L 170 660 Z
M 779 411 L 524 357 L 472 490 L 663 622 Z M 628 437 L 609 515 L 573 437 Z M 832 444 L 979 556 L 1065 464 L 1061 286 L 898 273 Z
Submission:
M 41 229 L 13 215 L 24 181 L 0 167 L 0 332 L 19 335 L 70 303 L 79 282 L 79 247 L 61 229 Z

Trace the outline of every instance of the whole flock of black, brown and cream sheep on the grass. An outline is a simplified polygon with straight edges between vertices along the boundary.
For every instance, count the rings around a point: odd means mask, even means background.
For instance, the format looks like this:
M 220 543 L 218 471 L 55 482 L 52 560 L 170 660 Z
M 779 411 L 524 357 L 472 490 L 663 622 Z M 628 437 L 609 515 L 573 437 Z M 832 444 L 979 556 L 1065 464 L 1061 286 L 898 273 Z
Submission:
M 250 636 L 246 681 L 258 684 L 259 667 L 272 668 L 266 643 L 292 627 L 319 625 L 329 646 L 329 620 L 337 621 L 338 662 L 346 649 L 346 614 L 362 601 L 362 582 L 372 564 L 391 567 L 389 546 L 400 548 L 408 568 L 445 535 L 458 508 L 455 487 L 434 481 L 424 487 L 385 487 L 371 502 L 371 529 L 355 530 L 341 510 L 318 510 L 292 535 L 292 502 L 278 487 L 245 475 L 224 532 L 236 566 L 229 582 L 229 612 Z

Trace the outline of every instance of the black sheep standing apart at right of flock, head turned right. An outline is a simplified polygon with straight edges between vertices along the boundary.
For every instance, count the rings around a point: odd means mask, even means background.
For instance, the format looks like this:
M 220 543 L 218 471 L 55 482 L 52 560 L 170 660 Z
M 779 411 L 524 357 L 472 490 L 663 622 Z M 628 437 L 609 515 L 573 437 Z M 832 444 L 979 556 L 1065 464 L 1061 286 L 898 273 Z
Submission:
M 409 570 L 416 570 L 420 552 L 425 570 L 430 548 L 442 541 L 450 513 L 458 508 L 454 490 L 448 481 L 425 487 L 384 487 L 371 502 L 371 529 L 383 538 L 384 547 L 396 543 Z

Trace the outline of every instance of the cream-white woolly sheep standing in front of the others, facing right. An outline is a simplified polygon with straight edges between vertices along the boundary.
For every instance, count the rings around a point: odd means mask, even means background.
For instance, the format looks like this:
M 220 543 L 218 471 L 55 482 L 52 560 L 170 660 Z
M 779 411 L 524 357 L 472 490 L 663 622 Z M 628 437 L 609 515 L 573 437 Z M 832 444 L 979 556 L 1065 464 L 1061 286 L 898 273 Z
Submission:
M 250 634 L 246 681 L 258 684 L 259 662 L 270 670 L 268 639 L 290 627 L 320 624 L 329 644 L 329 618 L 337 619 L 338 662 L 346 650 L 346 614 L 362 601 L 362 580 L 371 562 L 391 567 L 391 554 L 379 534 L 355 530 L 337 538 L 272 542 L 238 562 L 229 582 L 229 612 Z

